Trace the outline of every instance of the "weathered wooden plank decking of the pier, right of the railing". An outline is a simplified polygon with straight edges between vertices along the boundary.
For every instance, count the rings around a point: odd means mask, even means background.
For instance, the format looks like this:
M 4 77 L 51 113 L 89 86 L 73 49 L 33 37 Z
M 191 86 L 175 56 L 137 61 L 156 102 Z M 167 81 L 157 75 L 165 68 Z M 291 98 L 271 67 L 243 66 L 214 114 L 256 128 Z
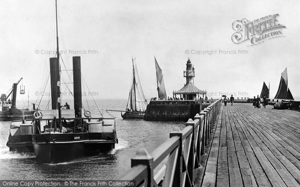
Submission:
M 216 119 L 203 187 L 300 187 L 299 112 L 234 103 Z

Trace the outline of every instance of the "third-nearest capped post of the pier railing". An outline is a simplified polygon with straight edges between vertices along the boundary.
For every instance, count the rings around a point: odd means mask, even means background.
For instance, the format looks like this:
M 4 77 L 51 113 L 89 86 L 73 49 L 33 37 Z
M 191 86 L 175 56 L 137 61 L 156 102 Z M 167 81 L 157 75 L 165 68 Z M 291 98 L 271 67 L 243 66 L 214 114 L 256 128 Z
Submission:
M 188 119 L 188 121 L 185 123 L 185 127 L 192 126 L 192 134 L 191 134 L 191 142 L 190 142 L 190 149 L 189 149 L 189 155 L 187 156 L 187 173 L 189 178 L 191 179 L 191 185 L 194 184 L 194 156 L 195 156 L 195 124 L 192 121 L 192 119 Z M 186 146 L 186 145 L 185 145 Z M 185 180 L 185 182 L 188 182 L 188 180 Z M 186 187 L 189 187 L 189 183 L 185 183 Z

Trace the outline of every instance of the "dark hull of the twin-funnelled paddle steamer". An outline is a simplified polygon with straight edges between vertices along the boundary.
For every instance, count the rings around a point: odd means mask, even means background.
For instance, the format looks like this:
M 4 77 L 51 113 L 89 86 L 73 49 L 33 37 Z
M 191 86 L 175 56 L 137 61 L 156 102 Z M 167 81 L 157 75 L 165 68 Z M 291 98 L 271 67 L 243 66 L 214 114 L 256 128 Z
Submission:
M 47 164 L 71 161 L 106 152 L 113 149 L 115 143 L 113 139 L 92 138 L 89 133 L 32 135 L 35 157 L 41 163 Z

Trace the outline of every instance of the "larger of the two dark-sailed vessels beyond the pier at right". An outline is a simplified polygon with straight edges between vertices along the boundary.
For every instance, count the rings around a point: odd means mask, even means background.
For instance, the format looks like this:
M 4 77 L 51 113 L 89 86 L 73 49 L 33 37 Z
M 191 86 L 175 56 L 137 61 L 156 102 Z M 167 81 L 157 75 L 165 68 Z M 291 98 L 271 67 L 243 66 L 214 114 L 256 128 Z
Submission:
M 281 78 L 278 86 L 277 93 L 274 99 L 288 99 L 293 100 L 293 97 L 290 93 L 290 90 L 287 86 L 287 69 L 285 68 L 284 71 L 281 73 Z

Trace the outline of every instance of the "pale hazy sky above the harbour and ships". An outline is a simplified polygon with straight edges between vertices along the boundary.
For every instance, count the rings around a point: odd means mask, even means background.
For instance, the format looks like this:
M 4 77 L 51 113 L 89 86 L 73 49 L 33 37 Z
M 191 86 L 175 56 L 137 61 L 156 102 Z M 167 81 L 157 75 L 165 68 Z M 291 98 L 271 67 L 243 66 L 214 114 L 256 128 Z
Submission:
M 0 1 L 1 93 L 22 77 L 23 98 L 29 93 L 34 102 L 41 95 L 49 57 L 54 57 L 45 53 L 56 50 L 54 4 L 54 0 Z M 168 96 L 183 87 L 183 70 L 190 58 L 194 84 L 208 97 L 220 98 L 221 93 L 253 97 L 265 81 L 273 98 L 286 67 L 288 87 L 300 100 L 298 0 L 58 0 L 57 4 L 61 69 L 71 69 L 72 56 L 81 56 L 81 73 L 90 91 L 85 87 L 87 97 L 127 98 L 132 57 L 145 97 L 157 97 L 155 56 Z M 249 41 L 232 42 L 235 20 L 253 21 L 276 13 L 278 22 L 286 26 L 284 37 L 252 46 Z M 205 50 L 217 52 L 194 54 Z M 62 73 L 65 82 L 71 82 L 69 74 Z M 61 92 L 68 97 L 68 90 Z

